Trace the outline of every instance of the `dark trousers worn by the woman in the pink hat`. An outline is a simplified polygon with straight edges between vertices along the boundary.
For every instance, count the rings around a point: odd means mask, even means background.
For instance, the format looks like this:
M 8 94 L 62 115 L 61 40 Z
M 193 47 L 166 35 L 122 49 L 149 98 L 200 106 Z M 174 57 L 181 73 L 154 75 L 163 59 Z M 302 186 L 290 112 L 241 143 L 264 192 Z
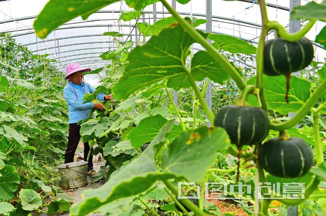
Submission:
M 65 164 L 73 162 L 73 157 L 75 155 L 81 137 L 79 131 L 80 131 L 80 125 L 77 125 L 77 123 L 69 124 L 69 137 L 68 137 L 68 146 L 65 153 Z M 90 146 L 88 142 L 84 142 L 84 161 L 87 161 L 87 156 L 89 151 L 90 151 Z M 92 152 L 88 161 L 88 168 L 93 169 Z

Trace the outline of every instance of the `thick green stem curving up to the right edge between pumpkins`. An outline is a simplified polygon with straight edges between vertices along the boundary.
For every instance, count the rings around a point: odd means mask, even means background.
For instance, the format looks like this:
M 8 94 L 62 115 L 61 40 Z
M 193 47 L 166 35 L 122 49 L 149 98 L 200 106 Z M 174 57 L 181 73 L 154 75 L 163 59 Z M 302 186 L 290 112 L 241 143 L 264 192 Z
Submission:
M 319 87 L 310 95 L 309 99 L 305 102 L 305 104 L 298 110 L 298 112 L 293 116 L 293 118 L 284 121 L 282 123 L 275 124 L 270 122 L 270 129 L 276 131 L 284 131 L 289 129 L 295 125 L 297 125 L 310 111 L 310 108 L 318 101 L 318 99 L 322 96 L 323 92 L 326 90 L 326 79 L 319 85 Z

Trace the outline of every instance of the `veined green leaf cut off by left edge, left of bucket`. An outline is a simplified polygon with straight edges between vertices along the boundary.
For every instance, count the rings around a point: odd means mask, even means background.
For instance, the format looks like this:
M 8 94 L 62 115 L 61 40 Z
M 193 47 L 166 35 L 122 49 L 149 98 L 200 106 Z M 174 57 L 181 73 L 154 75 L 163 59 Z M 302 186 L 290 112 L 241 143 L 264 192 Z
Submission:
M 14 192 L 19 186 L 20 176 L 15 167 L 6 165 L 0 170 L 0 200 L 9 200 L 13 198 Z

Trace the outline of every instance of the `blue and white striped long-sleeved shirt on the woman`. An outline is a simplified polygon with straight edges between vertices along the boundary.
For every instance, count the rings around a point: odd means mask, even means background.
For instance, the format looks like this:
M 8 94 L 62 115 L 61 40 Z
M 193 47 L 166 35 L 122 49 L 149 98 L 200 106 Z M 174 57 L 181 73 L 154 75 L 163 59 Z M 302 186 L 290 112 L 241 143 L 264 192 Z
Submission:
M 75 87 L 78 98 L 75 95 L 75 92 L 71 86 L 70 81 L 63 89 L 63 93 L 68 105 L 68 117 L 69 117 L 68 124 L 77 123 L 80 120 L 86 119 L 91 109 L 94 108 L 94 104 L 92 102 L 83 103 L 84 102 L 83 98 L 85 95 L 83 89 L 84 84 L 80 83 L 80 85 L 76 85 L 76 84 L 73 85 Z M 89 83 L 85 82 L 85 90 L 86 93 L 93 94 L 95 88 L 93 88 L 93 86 L 91 86 Z M 104 101 L 104 96 L 105 96 L 104 94 L 99 92 L 96 98 L 99 101 Z

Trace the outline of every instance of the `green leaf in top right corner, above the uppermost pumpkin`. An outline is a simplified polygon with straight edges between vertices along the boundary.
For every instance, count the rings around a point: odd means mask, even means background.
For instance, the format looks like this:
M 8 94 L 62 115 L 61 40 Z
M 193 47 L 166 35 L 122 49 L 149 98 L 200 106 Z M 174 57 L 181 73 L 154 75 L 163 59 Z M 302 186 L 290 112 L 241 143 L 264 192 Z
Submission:
M 326 19 L 326 1 L 320 4 L 312 1 L 295 7 L 291 12 L 291 19 Z

